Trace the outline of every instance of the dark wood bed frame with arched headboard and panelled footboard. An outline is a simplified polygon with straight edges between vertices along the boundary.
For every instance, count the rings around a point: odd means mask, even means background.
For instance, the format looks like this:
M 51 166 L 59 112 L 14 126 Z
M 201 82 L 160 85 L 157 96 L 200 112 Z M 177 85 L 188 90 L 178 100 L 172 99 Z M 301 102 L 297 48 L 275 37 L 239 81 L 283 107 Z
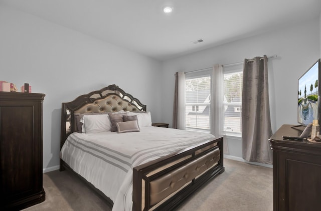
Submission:
M 113 96 L 121 99 L 129 107 L 130 111 L 146 111 L 146 105 L 134 98 L 132 95 L 124 92 L 116 85 L 109 85 L 101 90 L 93 91 L 85 95 L 77 97 L 75 100 L 62 103 L 61 112 L 61 141 L 60 149 L 65 143 L 67 137 L 77 131 L 74 119 L 75 111 L 79 111 L 84 106 L 96 104 L 97 100 L 106 99 Z M 108 103 L 107 103 L 108 104 Z M 118 108 L 119 110 L 119 108 Z M 112 112 L 118 111 L 112 109 Z M 124 109 L 125 110 L 125 109 Z M 87 112 L 87 111 L 86 111 Z M 86 113 L 85 112 L 85 113 Z M 101 112 L 106 112 L 101 109 Z M 88 111 L 87 113 L 90 113 Z M 197 162 L 197 167 L 194 165 Z M 60 159 L 60 171 L 65 168 L 74 172 L 67 163 Z M 197 170 L 196 170 L 197 169 Z M 201 169 L 201 170 L 200 170 Z M 186 184 L 181 185 L 177 190 L 167 197 L 156 199 L 152 202 L 150 189 L 163 185 L 162 181 L 171 174 L 173 177 L 180 176 L 184 172 L 184 177 L 193 174 L 193 178 L 189 178 Z M 195 146 L 191 146 L 175 154 L 147 162 L 145 164 L 133 168 L 133 210 L 172 210 L 178 207 L 188 198 L 195 190 L 200 188 L 206 182 L 224 172 L 223 166 L 223 137 L 203 142 Z M 99 189 L 94 187 L 90 182 L 82 176 L 79 176 L 87 185 L 89 185 L 99 196 L 106 200 L 112 207 L 112 200 Z M 169 181 L 166 181 L 169 182 Z M 170 184 L 178 181 L 170 181 Z M 173 186 L 173 185 L 172 185 Z M 175 188 L 174 188 L 175 189 Z M 151 203 L 152 202 L 152 203 Z

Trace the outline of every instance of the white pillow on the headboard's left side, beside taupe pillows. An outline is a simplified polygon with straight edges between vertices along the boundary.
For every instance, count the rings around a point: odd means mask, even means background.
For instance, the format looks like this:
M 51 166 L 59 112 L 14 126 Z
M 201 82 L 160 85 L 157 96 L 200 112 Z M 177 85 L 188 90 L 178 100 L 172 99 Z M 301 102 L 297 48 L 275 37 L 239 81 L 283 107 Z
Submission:
M 83 123 L 81 130 L 83 133 L 111 131 L 111 122 L 108 115 L 84 115 L 80 122 Z

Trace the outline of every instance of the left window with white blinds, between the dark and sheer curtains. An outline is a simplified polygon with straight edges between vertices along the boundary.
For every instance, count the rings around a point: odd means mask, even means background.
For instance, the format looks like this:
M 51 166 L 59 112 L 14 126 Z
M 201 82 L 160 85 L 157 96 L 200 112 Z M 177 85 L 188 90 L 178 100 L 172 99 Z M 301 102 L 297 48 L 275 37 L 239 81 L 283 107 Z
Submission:
M 186 79 L 186 130 L 210 132 L 211 77 Z

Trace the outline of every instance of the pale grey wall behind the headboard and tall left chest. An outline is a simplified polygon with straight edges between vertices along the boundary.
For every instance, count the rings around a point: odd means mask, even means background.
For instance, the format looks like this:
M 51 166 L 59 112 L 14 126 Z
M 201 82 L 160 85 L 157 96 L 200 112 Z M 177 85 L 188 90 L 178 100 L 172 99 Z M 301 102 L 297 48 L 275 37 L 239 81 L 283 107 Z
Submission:
M 61 103 L 116 84 L 138 98 L 159 121 L 160 64 L 0 4 L 0 80 L 46 94 L 43 103 L 43 167 L 57 169 Z

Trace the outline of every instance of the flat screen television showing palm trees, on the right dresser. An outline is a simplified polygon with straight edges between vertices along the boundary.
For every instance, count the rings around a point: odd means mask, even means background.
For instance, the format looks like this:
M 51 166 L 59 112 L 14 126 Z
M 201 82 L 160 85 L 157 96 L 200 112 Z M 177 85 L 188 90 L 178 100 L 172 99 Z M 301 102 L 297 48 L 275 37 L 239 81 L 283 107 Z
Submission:
M 321 64 L 318 59 L 298 79 L 298 110 L 297 121 L 300 125 L 306 126 L 313 122 L 313 119 L 320 121 L 321 104 Z

